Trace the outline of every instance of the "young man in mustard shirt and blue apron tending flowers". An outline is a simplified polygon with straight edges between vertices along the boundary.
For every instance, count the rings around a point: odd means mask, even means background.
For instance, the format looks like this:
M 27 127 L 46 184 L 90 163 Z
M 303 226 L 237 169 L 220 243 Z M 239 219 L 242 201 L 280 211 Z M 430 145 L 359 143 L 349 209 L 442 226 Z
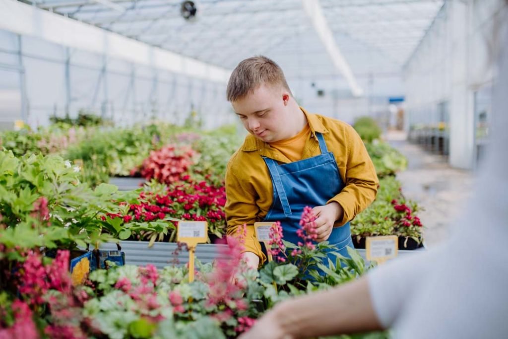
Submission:
M 264 56 L 238 64 L 227 97 L 250 133 L 226 171 L 228 234 L 247 224 L 247 263 L 266 259 L 255 222 L 280 221 L 284 239 L 296 243 L 305 206 L 317 216 L 316 241 L 347 256 L 349 222 L 374 200 L 378 183 L 355 130 L 299 107 L 282 70 Z

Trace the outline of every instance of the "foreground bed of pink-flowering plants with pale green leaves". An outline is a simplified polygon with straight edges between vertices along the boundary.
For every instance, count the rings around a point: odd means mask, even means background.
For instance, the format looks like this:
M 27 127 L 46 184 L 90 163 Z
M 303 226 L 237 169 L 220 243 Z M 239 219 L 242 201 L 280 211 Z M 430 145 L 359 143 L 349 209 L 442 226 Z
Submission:
M 315 219 L 309 211 L 305 218 Z M 282 245 L 296 250 L 285 255 L 287 260 L 270 262 L 260 272 L 249 270 L 240 259 L 245 230 L 239 228 L 223 253 L 228 259 L 198 264 L 194 282 L 188 281 L 185 266 L 158 271 L 153 265 L 112 265 L 88 277 L 71 276 L 68 251 L 58 251 L 48 262 L 37 247 L 2 245 L 0 267 L 8 284 L 0 292 L 0 337 L 234 338 L 277 302 L 328 289 L 366 270 L 353 250 L 351 259 L 338 257 L 324 265 L 329 246 L 309 246 L 312 229 L 302 230 L 304 243 L 291 244 L 275 237 L 277 225 L 272 227 L 270 250 L 284 252 Z M 317 274 L 319 268 L 327 276 Z M 314 278 L 308 280 L 309 274 Z

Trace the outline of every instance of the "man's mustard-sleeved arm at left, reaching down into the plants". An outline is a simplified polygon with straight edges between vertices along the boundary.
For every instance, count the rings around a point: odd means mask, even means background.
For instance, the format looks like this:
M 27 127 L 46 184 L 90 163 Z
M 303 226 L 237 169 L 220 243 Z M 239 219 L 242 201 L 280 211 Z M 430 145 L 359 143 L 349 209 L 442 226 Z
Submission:
M 256 239 L 253 226 L 259 210 L 255 202 L 255 194 L 245 185 L 242 185 L 231 163 L 228 164 L 226 169 L 225 186 L 227 234 L 228 236 L 236 236 L 238 228 L 244 224 L 247 225 L 243 258 L 250 267 L 258 268 L 260 261 L 263 263 L 266 257 L 261 250 L 259 241 Z

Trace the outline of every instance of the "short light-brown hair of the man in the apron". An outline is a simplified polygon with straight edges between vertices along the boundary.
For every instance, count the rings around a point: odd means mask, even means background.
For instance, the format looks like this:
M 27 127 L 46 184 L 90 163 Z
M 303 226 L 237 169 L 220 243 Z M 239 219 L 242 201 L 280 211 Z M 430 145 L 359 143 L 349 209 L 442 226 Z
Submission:
M 263 55 L 249 57 L 238 64 L 229 78 L 226 96 L 228 101 L 236 101 L 264 84 L 280 84 L 293 96 L 279 65 Z

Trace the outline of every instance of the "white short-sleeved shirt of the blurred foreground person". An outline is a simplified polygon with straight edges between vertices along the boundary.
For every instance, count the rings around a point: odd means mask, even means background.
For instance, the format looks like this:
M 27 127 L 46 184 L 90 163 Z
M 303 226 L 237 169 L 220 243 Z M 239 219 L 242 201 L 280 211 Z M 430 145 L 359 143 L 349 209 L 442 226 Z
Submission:
M 508 337 L 508 24 L 494 87 L 493 138 L 450 241 L 368 274 L 380 323 L 395 337 Z

